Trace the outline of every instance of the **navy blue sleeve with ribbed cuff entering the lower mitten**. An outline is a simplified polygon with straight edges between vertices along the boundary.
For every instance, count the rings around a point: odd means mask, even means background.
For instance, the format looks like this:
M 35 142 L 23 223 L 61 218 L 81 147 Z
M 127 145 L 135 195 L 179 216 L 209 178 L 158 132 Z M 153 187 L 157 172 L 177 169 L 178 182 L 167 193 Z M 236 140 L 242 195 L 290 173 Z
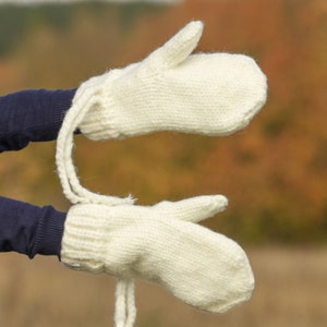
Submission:
M 0 196 L 0 252 L 60 258 L 65 213 Z

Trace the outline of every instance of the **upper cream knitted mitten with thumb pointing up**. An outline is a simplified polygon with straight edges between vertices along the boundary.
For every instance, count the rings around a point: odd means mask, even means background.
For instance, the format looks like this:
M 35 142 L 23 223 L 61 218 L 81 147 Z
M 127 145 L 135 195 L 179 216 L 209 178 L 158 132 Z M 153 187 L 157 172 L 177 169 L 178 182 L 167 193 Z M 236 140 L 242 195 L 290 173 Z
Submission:
M 266 101 L 266 76 L 243 55 L 191 55 L 202 33 L 203 23 L 191 22 L 143 61 L 84 82 L 73 99 L 87 111 L 82 133 L 99 141 L 245 128 Z

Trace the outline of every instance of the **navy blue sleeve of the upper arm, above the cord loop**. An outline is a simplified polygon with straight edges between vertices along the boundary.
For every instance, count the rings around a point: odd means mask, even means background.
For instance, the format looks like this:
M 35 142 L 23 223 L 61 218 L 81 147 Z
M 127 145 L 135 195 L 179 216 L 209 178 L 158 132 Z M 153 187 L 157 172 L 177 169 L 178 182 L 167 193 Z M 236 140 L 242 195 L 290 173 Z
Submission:
M 76 89 L 28 89 L 0 97 L 0 153 L 53 141 Z

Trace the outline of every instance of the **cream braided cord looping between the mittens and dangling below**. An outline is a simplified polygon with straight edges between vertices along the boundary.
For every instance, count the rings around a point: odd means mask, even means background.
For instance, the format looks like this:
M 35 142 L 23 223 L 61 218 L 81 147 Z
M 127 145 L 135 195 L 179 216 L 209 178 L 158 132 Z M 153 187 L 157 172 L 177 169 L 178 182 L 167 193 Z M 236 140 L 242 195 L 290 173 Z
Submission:
M 58 175 L 65 197 L 72 203 L 93 203 L 118 205 L 133 203 L 131 197 L 120 198 L 96 194 L 83 187 L 76 174 L 72 159 L 74 131 L 87 110 L 97 102 L 97 98 L 84 88 L 66 112 L 57 138 L 56 162 Z M 135 282 L 133 279 L 119 279 L 116 291 L 116 327 L 133 327 L 136 318 Z

